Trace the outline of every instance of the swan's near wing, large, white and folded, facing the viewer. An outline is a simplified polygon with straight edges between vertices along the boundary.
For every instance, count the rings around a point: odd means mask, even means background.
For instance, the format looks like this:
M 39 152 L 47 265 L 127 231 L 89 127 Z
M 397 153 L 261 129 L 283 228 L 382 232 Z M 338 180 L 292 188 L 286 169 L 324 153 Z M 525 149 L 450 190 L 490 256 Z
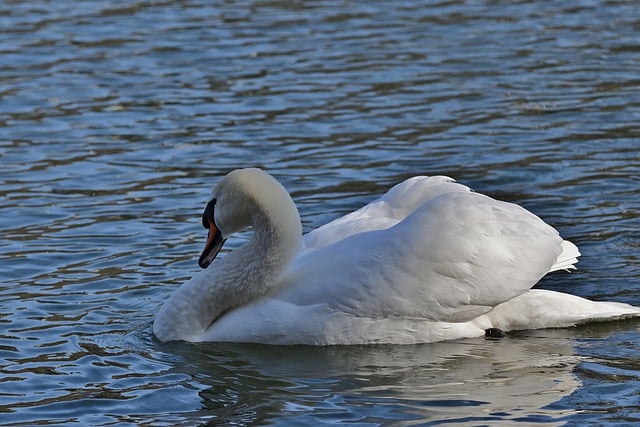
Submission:
M 356 316 L 467 321 L 530 289 L 562 242 L 520 206 L 446 193 L 391 228 L 304 254 L 281 297 Z

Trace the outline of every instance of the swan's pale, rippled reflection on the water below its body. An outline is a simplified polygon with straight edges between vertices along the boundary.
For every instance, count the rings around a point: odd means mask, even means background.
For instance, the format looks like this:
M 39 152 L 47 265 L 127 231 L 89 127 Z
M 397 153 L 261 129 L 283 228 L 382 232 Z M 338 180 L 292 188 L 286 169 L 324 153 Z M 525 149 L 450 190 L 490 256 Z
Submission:
M 416 346 L 180 345 L 217 422 L 562 424 L 576 329 Z M 369 420 L 369 421 L 366 421 Z M 375 421 L 377 420 L 377 421 Z

